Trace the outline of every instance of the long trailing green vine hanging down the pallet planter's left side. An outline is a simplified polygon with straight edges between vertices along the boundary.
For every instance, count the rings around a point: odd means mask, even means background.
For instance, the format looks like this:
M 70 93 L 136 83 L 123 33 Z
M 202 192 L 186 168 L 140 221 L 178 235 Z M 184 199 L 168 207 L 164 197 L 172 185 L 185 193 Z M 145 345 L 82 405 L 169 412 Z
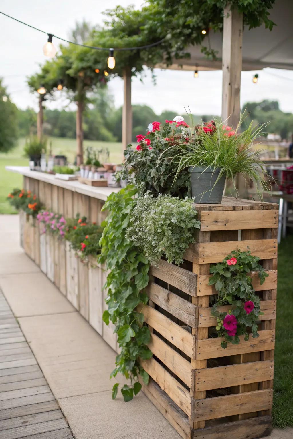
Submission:
M 105 228 L 98 258 L 98 262 L 105 263 L 106 270 L 110 270 L 105 285 L 108 309 L 103 313 L 103 320 L 105 324 L 109 324 L 109 320 L 115 324 L 114 332 L 118 335 L 121 349 L 111 377 L 116 377 L 119 372 L 131 382 L 130 386 L 124 385 L 121 389 L 124 401 L 130 401 L 140 391 L 141 384 L 136 381 L 139 375 L 148 384 L 148 373 L 141 367 L 139 358 L 147 360 L 152 356 L 147 347 L 150 331 L 143 326 L 144 315 L 135 311 L 139 303 L 148 302 L 144 288 L 148 284 L 149 262 L 141 250 L 125 237 L 130 212 L 136 205 L 136 200 L 132 198 L 135 194 L 137 189 L 130 185 L 108 197 L 103 210 L 107 210 L 109 216 L 101 224 Z M 117 392 L 118 383 L 113 386 L 113 399 Z

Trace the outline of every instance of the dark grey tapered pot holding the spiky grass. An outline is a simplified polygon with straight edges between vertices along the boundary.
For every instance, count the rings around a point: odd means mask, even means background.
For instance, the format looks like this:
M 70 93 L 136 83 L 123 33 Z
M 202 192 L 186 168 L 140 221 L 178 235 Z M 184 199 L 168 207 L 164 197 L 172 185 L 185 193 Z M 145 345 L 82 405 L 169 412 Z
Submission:
M 206 166 L 190 166 L 189 173 L 192 198 L 195 203 L 221 204 L 226 177 L 221 177 L 214 186 L 220 169 L 213 172 L 213 169 Z

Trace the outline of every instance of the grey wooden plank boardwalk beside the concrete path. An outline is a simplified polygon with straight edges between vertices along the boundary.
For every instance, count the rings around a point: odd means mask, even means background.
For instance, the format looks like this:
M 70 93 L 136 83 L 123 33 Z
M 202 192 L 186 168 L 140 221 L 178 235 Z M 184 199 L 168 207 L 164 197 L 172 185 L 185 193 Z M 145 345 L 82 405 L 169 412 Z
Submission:
M 0 439 L 74 439 L 0 290 Z

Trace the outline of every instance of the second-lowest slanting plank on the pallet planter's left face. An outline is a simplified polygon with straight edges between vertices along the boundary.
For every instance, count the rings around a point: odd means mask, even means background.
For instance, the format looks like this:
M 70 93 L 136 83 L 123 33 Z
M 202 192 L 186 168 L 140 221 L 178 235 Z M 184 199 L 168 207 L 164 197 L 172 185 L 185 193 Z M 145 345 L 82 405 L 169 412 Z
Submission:
M 141 366 L 148 372 L 153 380 L 159 384 L 160 388 L 173 399 L 174 403 L 177 404 L 188 417 L 191 417 L 192 398 L 188 390 L 173 378 L 154 358 L 141 360 Z

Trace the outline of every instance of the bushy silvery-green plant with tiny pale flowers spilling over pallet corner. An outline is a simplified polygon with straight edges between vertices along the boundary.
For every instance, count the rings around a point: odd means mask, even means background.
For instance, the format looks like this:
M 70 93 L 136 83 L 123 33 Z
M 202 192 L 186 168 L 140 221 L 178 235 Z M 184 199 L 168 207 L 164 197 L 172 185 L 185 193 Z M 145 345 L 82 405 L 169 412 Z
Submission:
M 150 263 L 158 265 L 161 256 L 166 255 L 169 263 L 179 265 L 195 229 L 200 228 L 196 216 L 189 198 L 161 194 L 154 198 L 147 192 L 137 199 L 130 213 L 126 237 L 142 249 Z

